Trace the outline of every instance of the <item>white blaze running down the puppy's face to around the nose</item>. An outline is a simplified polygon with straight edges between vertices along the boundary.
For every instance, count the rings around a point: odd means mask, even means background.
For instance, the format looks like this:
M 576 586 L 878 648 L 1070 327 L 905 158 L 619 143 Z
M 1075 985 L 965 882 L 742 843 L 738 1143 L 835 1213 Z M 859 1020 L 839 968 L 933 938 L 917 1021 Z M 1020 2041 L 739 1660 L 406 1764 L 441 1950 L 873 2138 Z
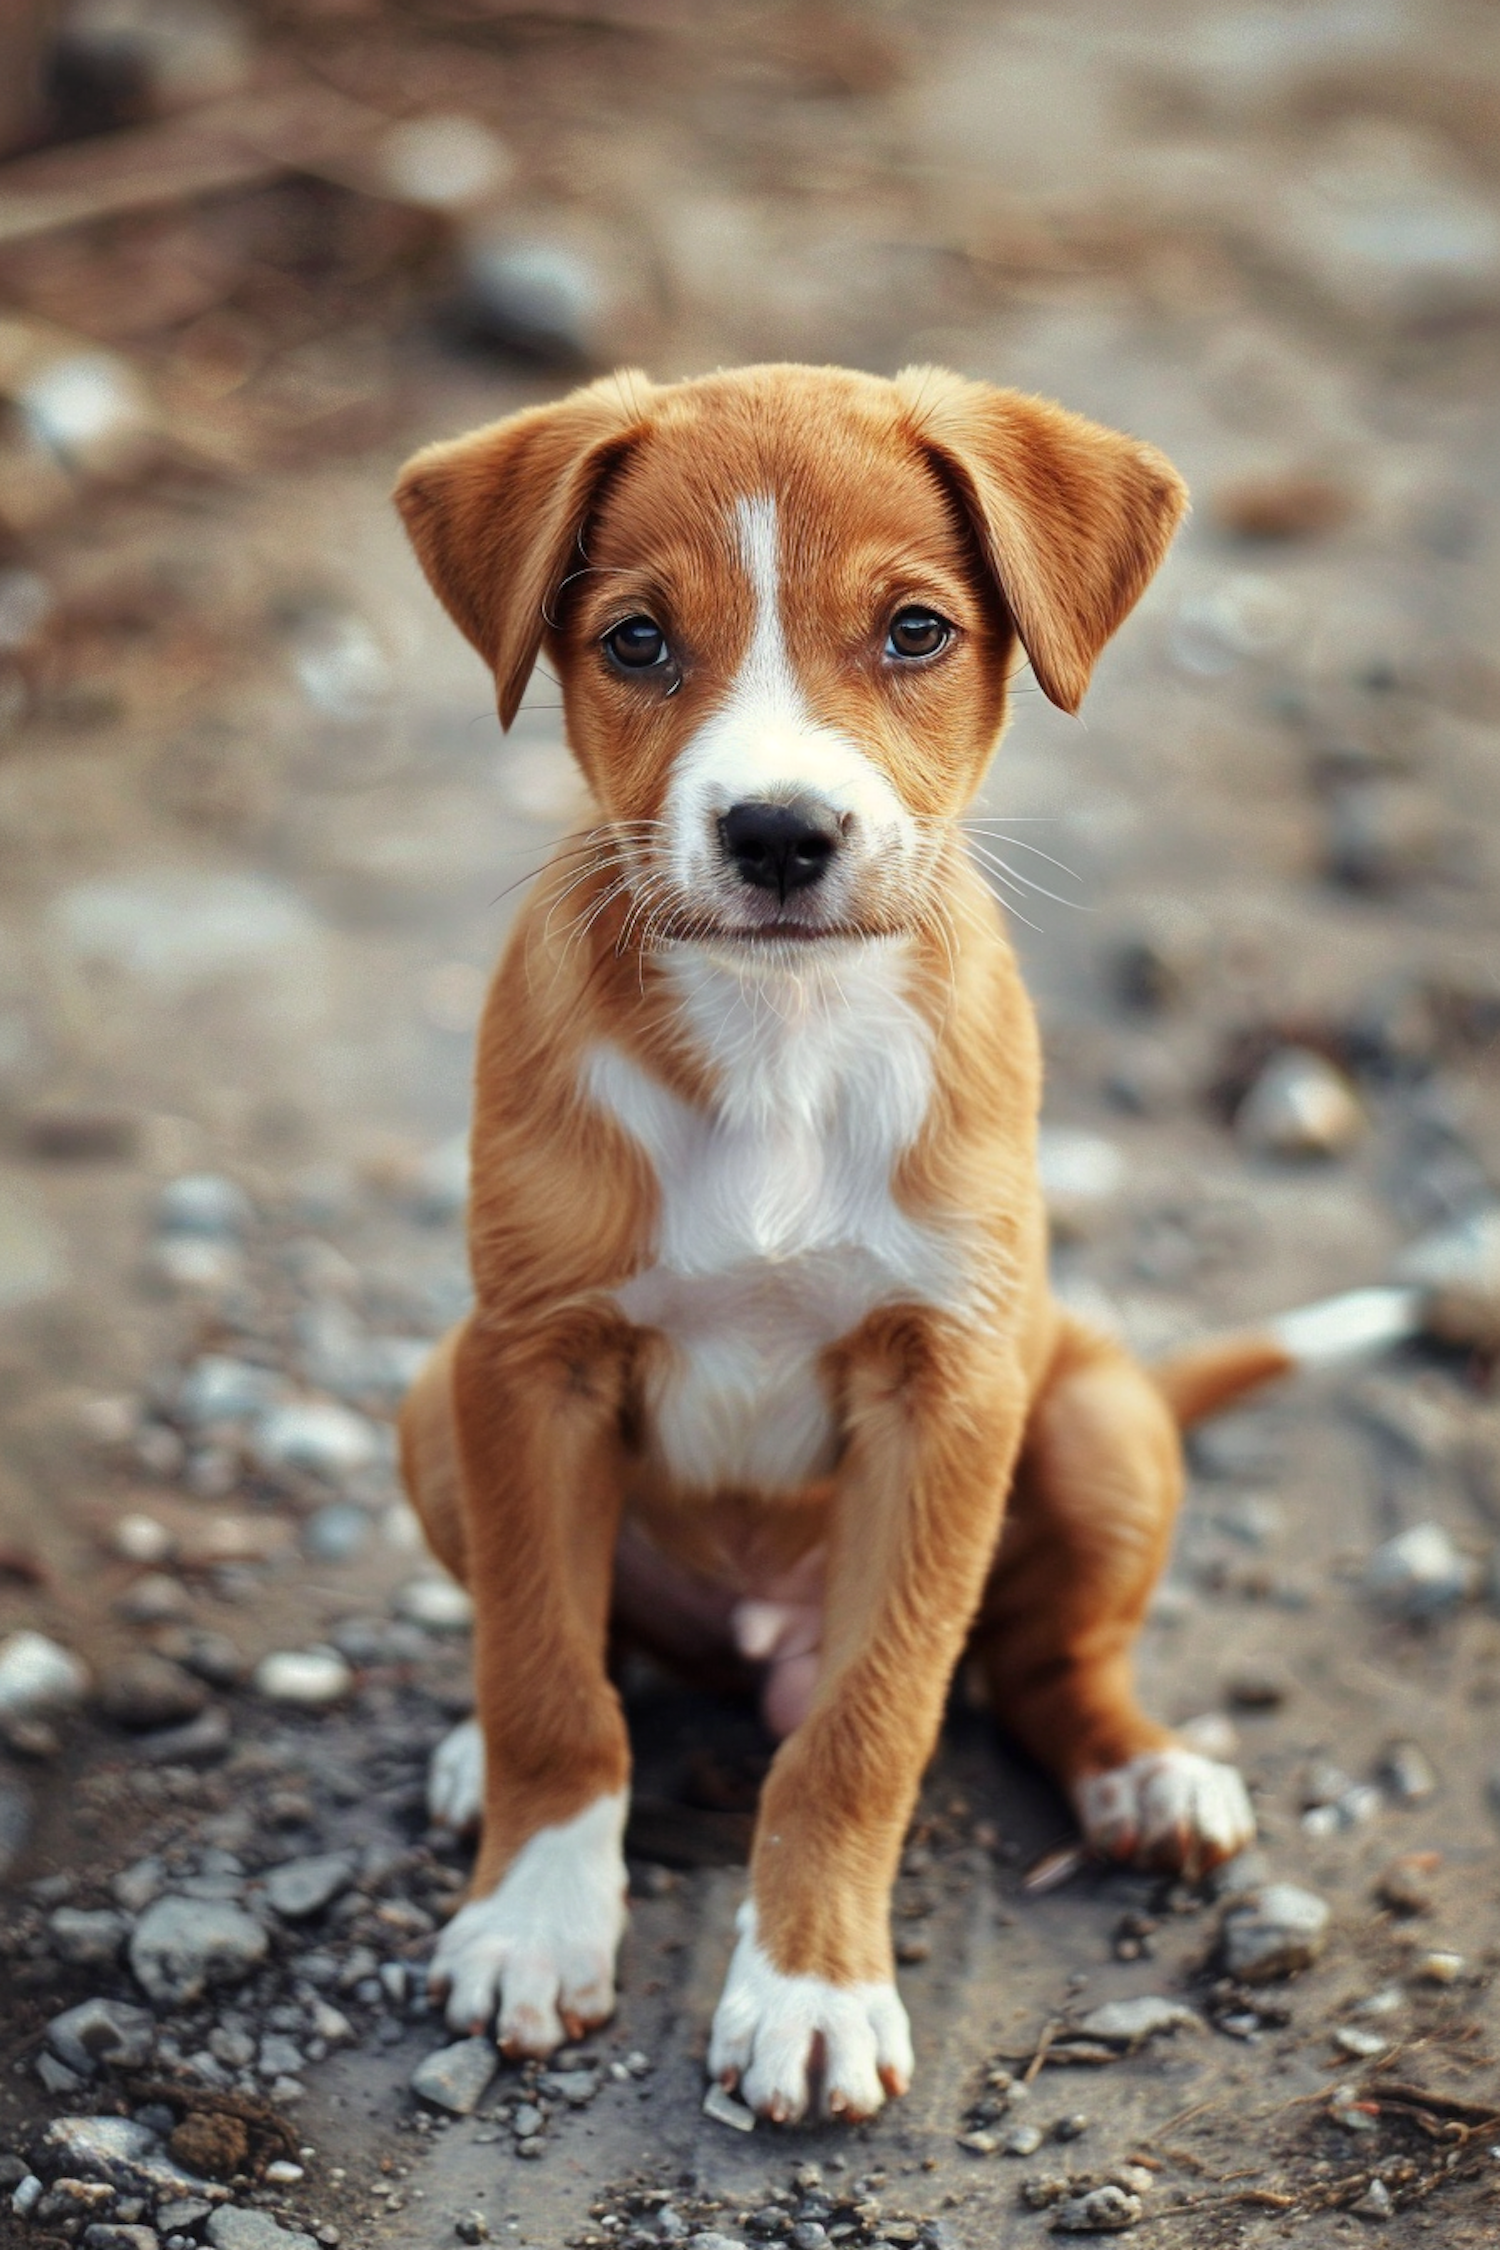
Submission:
M 688 740 L 668 792 L 672 860 L 686 886 L 717 873 L 715 824 L 731 806 L 798 794 L 850 814 L 848 850 L 909 853 L 915 824 L 891 778 L 839 727 L 819 720 L 785 632 L 780 511 L 735 500 L 733 554 L 751 590 L 751 637 L 724 702 Z M 848 857 L 848 855 L 846 855 Z

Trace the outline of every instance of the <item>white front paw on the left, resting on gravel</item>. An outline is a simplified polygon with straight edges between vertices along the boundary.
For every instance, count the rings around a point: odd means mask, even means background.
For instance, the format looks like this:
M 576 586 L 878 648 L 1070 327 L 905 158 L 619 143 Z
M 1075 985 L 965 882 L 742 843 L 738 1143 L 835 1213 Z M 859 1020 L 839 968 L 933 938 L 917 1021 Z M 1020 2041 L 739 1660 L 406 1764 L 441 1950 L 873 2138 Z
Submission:
M 454 2032 L 495 2018 L 506 2054 L 551 2054 L 614 2014 L 625 1933 L 625 1791 L 594 1798 L 515 1854 L 488 1899 L 452 1917 L 427 1984 Z

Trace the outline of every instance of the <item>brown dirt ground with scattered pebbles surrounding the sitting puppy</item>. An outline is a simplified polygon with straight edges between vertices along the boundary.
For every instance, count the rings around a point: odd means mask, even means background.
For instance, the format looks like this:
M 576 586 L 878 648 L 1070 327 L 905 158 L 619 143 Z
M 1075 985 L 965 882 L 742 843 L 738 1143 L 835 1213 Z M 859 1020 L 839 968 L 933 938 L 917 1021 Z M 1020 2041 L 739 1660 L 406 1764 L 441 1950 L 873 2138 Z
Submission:
M 0 2239 L 99 2223 L 47 2120 L 146 2108 L 216 2120 L 191 2169 L 346 2250 L 990 2250 L 1120 2167 L 1163 2250 L 1496 2241 L 1500 1404 L 1462 1350 L 1205 1429 L 1140 1649 L 1149 1708 L 1237 1739 L 1239 1874 L 1329 1904 L 1307 1973 L 1228 1989 L 1212 1890 L 1028 1883 L 1066 1807 L 958 1683 L 897 1897 L 918 2084 L 735 2133 L 702 2054 L 769 1744 L 632 1670 L 616 2023 L 560 2081 L 414 2102 L 466 1863 L 421 1778 L 468 1683 L 389 1418 L 463 1305 L 484 979 L 576 812 L 555 688 L 499 736 L 385 495 L 616 360 L 942 360 L 1158 443 L 1194 515 L 1082 720 L 1021 686 L 985 796 L 1046 1118 L 1093 1136 L 1052 1143 L 1059 1287 L 1154 1352 L 1385 1280 L 1500 1184 L 1500 18 L 263 0 L 236 52 L 220 104 L 315 94 L 243 178 L 216 142 L 218 184 L 40 230 L 27 196 L 99 196 L 110 135 L 0 171 L 0 1645 L 90 1674 L 0 1710 Z M 178 133 L 130 83 L 103 124 Z M 490 135 L 472 212 L 371 184 L 371 119 L 454 112 Z M 486 245 L 542 259 L 549 335 Z M 124 452 L 43 459 L 11 331 L 130 376 Z M 1255 1134 L 1286 1048 L 1334 1071 L 1322 1154 Z M 322 1451 L 274 1424 L 301 1400 L 346 1408 Z M 1421 1526 L 1448 1582 L 1381 1598 Z M 254 1670 L 326 1649 L 326 1706 Z M 328 1854 L 328 1901 L 268 1904 Z M 61 2009 L 142 2005 L 153 1886 L 270 1951 L 58 2074 Z M 117 1917 L 90 1958 L 79 1910 Z M 1145 1994 L 1201 2023 L 1070 2036 Z M 274 2250 L 121 2194 L 155 2232 L 90 2250 Z

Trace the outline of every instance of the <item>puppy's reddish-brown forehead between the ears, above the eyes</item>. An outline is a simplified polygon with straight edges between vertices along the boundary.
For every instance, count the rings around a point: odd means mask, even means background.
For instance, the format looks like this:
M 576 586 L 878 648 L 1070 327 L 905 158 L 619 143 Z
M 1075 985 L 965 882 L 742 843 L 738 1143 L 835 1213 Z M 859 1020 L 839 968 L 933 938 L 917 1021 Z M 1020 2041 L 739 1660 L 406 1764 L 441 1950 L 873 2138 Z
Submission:
M 812 374 L 666 394 L 605 493 L 591 560 L 740 576 L 747 504 L 765 502 L 783 578 L 839 578 L 841 562 L 902 556 L 951 569 L 963 558 L 956 511 L 895 403 Z M 756 506 L 753 520 L 765 515 Z

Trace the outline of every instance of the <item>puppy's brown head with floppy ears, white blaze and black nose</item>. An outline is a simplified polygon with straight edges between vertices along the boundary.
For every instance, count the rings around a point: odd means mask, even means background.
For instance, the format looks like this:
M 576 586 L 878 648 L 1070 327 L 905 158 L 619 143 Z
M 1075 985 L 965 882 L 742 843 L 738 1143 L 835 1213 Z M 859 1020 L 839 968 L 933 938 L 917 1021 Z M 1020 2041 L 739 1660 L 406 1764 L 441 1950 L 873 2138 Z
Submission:
M 940 369 L 747 367 L 430 446 L 396 504 L 504 724 L 546 644 L 645 927 L 749 950 L 922 920 L 1016 644 L 1075 711 L 1185 490 Z

